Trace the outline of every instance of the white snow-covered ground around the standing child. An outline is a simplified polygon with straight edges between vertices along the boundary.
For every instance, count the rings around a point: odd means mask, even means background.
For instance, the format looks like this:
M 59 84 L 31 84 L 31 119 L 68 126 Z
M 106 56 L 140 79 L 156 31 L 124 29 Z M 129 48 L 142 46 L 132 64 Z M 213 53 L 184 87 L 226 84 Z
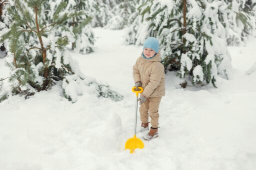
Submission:
M 159 137 L 130 154 L 124 144 L 133 136 L 132 65 L 142 49 L 122 45 L 123 31 L 94 31 L 95 52 L 72 55 L 85 75 L 107 82 L 124 99 L 87 93 L 71 104 L 58 84 L 27 100 L 3 101 L 0 170 L 256 169 L 256 73 L 244 74 L 256 61 L 256 39 L 228 47 L 233 79 L 219 78 L 217 89 L 181 89 L 174 73 L 167 73 Z M 0 58 L 0 77 L 8 75 L 3 65 Z

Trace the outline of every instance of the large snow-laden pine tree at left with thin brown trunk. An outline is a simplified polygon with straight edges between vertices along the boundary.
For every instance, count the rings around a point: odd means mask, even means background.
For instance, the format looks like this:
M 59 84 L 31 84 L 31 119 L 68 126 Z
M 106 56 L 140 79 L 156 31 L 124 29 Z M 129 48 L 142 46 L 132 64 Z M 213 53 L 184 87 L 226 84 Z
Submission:
M 45 21 L 43 6 L 47 2 L 14 0 L 14 6 L 8 8 L 13 20 L 0 40 L 8 42 L 6 65 L 11 70 L 8 77 L 11 91 L 2 89 L 1 79 L 0 101 L 9 95 L 33 95 L 36 91 L 48 89 L 58 80 L 63 80 L 64 96 L 72 102 L 82 95 L 81 86 L 93 86 L 97 96 L 121 100 L 122 96 L 110 90 L 108 85 L 98 84 L 84 76 L 66 48 L 75 35 L 65 21 L 84 13 L 62 11 L 67 4 L 61 1 L 54 13 L 48 16 L 49 21 Z M 61 36 L 57 34 L 58 29 L 62 30 Z

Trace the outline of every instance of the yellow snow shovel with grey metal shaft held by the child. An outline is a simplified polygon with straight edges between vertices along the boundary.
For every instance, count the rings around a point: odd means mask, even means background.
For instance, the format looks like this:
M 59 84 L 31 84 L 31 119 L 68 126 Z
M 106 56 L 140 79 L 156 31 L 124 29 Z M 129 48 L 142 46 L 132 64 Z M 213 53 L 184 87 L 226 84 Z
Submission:
M 125 143 L 125 150 L 129 149 L 130 153 L 132 154 L 135 149 L 142 149 L 144 148 L 143 142 L 139 139 L 136 138 L 136 123 L 137 123 L 137 110 L 138 110 L 138 93 L 143 92 L 142 87 L 138 87 L 139 91 L 136 91 L 136 87 L 132 87 L 132 92 L 136 93 L 136 103 L 135 103 L 135 121 L 134 121 L 134 135 L 133 138 L 130 138 L 126 141 Z

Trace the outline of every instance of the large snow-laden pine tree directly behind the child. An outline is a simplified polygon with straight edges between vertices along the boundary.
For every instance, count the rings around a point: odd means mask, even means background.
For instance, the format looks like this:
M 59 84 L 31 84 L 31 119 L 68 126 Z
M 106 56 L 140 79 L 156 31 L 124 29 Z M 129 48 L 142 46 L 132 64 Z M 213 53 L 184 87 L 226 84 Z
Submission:
M 154 0 L 137 29 L 135 44 L 157 37 L 166 69 L 179 70 L 178 75 L 193 84 L 215 86 L 217 74 L 231 77 L 225 28 L 219 21 L 221 16 L 228 24 L 226 8 L 220 0 Z

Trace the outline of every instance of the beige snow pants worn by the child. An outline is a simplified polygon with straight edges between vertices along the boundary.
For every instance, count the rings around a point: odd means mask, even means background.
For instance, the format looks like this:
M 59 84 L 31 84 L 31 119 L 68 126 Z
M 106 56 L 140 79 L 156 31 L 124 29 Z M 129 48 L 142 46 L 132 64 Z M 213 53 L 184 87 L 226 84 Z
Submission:
M 150 124 L 152 128 L 158 127 L 158 108 L 161 97 L 149 97 L 139 107 L 140 120 L 142 123 L 148 122 L 148 115 L 151 118 Z

